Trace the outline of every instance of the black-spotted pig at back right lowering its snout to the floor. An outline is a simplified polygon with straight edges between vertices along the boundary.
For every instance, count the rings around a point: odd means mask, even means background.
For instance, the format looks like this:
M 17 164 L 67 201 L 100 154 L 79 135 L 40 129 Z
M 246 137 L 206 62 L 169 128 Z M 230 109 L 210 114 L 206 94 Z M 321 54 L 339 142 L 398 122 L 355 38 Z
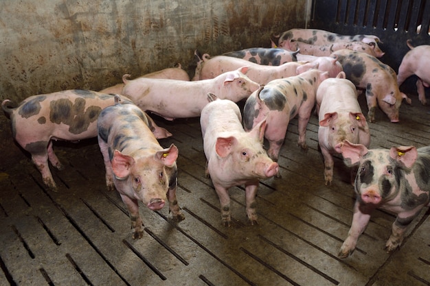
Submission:
M 385 112 L 391 122 L 398 122 L 398 110 L 402 100 L 406 99 L 411 103 L 411 99 L 401 93 L 398 89 L 396 73 L 374 56 L 360 51 L 341 49 L 331 55 L 337 57 L 341 63 L 346 78 L 357 88 L 365 90 L 367 99 L 367 119 L 375 122 L 376 106 Z

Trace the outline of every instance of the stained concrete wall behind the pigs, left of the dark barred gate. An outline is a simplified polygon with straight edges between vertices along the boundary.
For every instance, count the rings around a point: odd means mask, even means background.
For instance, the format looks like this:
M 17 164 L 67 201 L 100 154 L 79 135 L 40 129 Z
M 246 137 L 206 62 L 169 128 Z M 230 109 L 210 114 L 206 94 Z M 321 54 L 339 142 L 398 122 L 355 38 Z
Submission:
M 0 99 L 70 88 L 98 91 L 124 73 L 269 47 L 271 35 L 304 27 L 308 0 L 3 0 Z

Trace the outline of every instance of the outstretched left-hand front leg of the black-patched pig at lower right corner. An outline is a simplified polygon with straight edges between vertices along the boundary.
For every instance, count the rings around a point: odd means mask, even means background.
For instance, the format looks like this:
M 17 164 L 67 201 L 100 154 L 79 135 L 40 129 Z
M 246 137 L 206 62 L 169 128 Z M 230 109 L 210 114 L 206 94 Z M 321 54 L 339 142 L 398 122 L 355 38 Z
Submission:
M 343 241 L 341 249 L 339 250 L 338 256 L 340 258 L 346 258 L 354 252 L 359 236 L 363 233 L 370 221 L 370 214 L 372 211 L 373 208 L 363 206 L 358 201 L 355 202 L 351 228 L 348 232 L 348 237 Z

